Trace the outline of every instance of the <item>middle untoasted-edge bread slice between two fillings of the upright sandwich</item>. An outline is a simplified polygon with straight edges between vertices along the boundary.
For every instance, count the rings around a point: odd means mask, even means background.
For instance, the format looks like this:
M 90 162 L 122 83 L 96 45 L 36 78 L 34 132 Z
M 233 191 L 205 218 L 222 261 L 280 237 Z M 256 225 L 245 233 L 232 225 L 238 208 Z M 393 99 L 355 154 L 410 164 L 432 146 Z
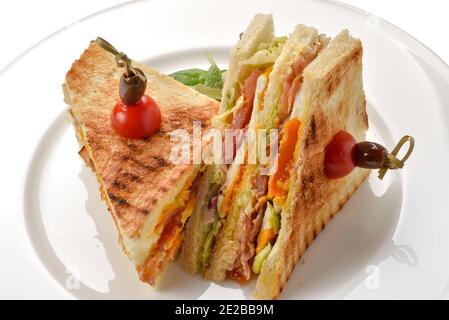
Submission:
M 264 96 L 261 116 L 254 123 L 254 128 L 274 129 L 280 125 L 279 100 L 282 84 L 292 73 L 292 65 L 304 55 L 312 52 L 318 46 L 319 35 L 315 28 L 298 25 L 289 36 L 281 54 L 277 58 Z M 223 281 L 226 274 L 236 266 L 248 278 L 251 275 L 249 260 L 255 254 L 254 237 L 260 228 L 263 208 L 254 208 L 260 198 L 257 189 L 263 182 L 259 165 L 241 165 L 242 177 L 229 202 L 229 212 L 222 223 L 222 230 L 217 235 L 216 245 L 210 259 L 210 267 L 206 277 L 214 281 Z M 241 261 L 236 261 L 236 260 Z M 237 262 L 237 263 L 236 263 Z M 240 272 L 241 273 L 241 272 Z

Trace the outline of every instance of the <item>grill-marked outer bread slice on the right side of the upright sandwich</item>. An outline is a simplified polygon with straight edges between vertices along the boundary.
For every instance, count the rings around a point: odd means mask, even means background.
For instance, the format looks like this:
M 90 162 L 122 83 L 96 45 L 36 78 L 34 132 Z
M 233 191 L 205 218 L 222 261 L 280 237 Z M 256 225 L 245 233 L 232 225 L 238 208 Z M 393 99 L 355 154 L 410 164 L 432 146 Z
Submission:
M 326 145 L 338 131 L 346 130 L 362 141 L 368 128 L 361 42 L 348 31 L 341 32 L 303 77 L 307 117 L 292 170 L 289 207 L 281 214 L 278 238 L 262 265 L 254 292 L 257 299 L 278 297 L 298 259 L 369 174 L 357 168 L 344 178 L 329 180 L 323 172 Z

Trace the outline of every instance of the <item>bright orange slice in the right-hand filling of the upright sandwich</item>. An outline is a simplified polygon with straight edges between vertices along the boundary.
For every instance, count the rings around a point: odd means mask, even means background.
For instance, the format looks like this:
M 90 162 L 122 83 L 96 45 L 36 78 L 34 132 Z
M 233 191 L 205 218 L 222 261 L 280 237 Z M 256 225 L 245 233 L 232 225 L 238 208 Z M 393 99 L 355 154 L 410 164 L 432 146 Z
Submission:
M 297 118 L 290 119 L 285 124 L 284 136 L 282 137 L 276 160 L 276 171 L 270 176 L 268 181 L 268 195 L 270 197 L 284 196 L 288 192 L 285 183 L 290 178 L 290 169 L 299 137 L 300 124 L 301 121 Z

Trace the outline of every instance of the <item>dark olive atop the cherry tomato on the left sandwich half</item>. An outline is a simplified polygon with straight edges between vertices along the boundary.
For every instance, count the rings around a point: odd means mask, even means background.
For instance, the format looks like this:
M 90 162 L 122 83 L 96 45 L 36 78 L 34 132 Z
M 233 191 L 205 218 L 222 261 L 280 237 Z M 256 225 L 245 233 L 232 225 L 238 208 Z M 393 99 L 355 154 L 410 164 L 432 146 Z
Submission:
M 142 70 L 138 68 L 133 70 L 134 73 L 129 77 L 123 74 L 120 78 L 119 94 L 124 105 L 136 104 L 142 98 L 147 88 L 147 80 Z

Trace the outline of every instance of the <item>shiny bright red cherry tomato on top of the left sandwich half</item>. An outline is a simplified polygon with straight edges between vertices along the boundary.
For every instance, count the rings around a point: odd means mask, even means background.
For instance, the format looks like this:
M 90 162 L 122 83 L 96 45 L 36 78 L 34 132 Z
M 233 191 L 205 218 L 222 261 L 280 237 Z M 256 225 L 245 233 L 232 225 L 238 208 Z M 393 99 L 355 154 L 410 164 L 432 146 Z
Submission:
M 147 95 L 133 105 L 125 105 L 119 100 L 111 114 L 112 127 L 129 139 L 148 138 L 160 129 L 161 121 L 159 106 Z

